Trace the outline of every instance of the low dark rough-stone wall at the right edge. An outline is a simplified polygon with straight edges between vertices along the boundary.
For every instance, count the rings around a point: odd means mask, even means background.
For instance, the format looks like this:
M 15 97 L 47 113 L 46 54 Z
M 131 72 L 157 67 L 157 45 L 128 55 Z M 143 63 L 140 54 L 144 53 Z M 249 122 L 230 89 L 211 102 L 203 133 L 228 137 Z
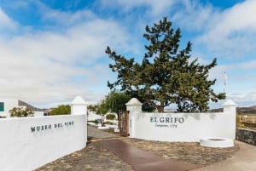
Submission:
M 247 128 L 237 128 L 236 140 L 240 140 L 251 145 L 256 145 L 256 130 Z

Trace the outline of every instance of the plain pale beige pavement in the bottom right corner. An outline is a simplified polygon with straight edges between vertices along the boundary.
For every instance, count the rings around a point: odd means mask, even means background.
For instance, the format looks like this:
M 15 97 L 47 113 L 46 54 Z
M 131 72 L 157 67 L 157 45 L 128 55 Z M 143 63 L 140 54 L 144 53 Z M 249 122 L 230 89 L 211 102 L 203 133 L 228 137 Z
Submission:
M 255 171 L 256 146 L 237 141 L 240 150 L 233 157 L 193 171 Z

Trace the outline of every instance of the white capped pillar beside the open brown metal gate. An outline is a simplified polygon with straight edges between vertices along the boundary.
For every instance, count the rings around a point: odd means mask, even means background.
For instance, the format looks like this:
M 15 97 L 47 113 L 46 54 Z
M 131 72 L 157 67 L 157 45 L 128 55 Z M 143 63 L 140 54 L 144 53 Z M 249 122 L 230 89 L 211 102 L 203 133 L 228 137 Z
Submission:
M 136 117 L 142 113 L 142 103 L 136 98 L 132 98 L 126 104 L 126 111 L 129 111 L 129 134 L 131 138 L 135 138 L 136 134 Z

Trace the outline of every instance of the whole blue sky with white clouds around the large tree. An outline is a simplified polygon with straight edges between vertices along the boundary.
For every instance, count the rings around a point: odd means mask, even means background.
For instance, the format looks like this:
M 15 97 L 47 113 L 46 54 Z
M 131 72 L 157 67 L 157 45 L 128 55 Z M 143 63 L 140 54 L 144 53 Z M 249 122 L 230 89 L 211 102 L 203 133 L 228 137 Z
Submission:
M 256 105 L 256 1 L 0 0 L 0 97 L 38 107 L 80 95 L 96 103 L 114 81 L 105 48 L 143 59 L 145 26 L 167 16 L 201 64 L 239 106 Z M 221 106 L 220 101 L 214 107 Z

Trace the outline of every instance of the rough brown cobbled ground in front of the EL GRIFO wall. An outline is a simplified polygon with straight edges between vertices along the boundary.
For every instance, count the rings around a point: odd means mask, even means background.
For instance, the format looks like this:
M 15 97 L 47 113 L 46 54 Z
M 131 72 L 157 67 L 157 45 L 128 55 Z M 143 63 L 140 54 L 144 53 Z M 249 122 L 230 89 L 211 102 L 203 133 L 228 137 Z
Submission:
M 123 139 L 137 148 L 151 151 L 154 154 L 166 159 L 174 159 L 181 162 L 210 165 L 232 157 L 239 150 L 239 145 L 235 143 L 230 148 L 210 148 L 192 142 L 161 142 L 150 140 Z

